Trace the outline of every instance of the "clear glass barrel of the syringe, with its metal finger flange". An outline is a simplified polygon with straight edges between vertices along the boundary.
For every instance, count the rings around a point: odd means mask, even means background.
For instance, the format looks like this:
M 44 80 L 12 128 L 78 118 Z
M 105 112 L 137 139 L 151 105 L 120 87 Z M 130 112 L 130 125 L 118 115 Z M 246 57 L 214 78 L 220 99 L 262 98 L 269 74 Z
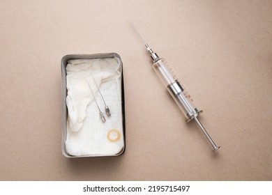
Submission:
M 188 93 L 184 91 L 179 81 L 175 79 L 175 75 L 169 71 L 167 68 L 167 63 L 165 59 L 158 59 L 155 63 L 153 63 L 153 68 L 156 71 L 160 80 L 163 81 L 163 84 L 167 87 L 167 90 L 174 98 L 176 104 L 179 105 L 179 108 L 186 116 L 186 121 L 189 122 L 195 116 L 199 116 L 202 111 L 198 111 L 196 107 L 193 106 L 192 101 L 187 98 Z

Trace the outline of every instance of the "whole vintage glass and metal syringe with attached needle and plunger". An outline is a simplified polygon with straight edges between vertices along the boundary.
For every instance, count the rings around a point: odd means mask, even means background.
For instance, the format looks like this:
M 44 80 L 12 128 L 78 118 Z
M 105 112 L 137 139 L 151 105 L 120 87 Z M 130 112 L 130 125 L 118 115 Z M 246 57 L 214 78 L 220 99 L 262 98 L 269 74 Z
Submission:
M 135 26 L 133 27 L 135 29 Z M 136 29 L 135 31 L 144 42 L 142 36 L 139 35 L 138 31 Z M 214 143 L 208 132 L 206 132 L 202 123 L 200 123 L 197 118 L 197 116 L 199 116 L 202 111 L 199 111 L 196 107 L 192 106 L 192 101 L 190 100 L 190 98 L 188 98 L 188 93 L 183 89 L 181 84 L 179 84 L 178 79 L 175 78 L 176 75 L 174 75 L 172 71 L 171 72 L 173 75 L 170 73 L 169 68 L 167 68 L 168 65 L 166 64 L 165 59 L 160 59 L 160 57 L 155 52 L 153 52 L 151 47 L 149 47 L 149 45 L 147 45 L 146 43 L 145 46 L 151 56 L 151 59 L 153 60 L 153 69 L 156 71 L 158 77 L 160 77 L 160 80 L 163 81 L 163 84 L 167 87 L 167 90 L 172 95 L 172 98 L 175 100 L 176 104 L 178 104 L 179 108 L 186 116 L 186 122 L 190 122 L 194 119 L 204 133 L 205 137 L 211 143 L 211 146 L 213 146 L 213 151 L 218 150 L 220 146 L 216 146 L 216 143 Z

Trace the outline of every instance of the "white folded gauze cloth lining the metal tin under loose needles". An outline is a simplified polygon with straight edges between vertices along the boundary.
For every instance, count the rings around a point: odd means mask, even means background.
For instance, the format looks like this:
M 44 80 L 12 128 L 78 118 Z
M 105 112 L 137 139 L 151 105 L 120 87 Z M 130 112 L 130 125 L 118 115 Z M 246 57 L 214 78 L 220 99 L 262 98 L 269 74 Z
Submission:
M 121 62 L 112 59 L 75 59 L 66 66 L 68 107 L 66 151 L 70 155 L 116 155 L 123 149 Z M 112 115 L 102 123 L 96 102 L 105 113 L 103 94 Z M 93 95 L 91 93 L 91 89 Z

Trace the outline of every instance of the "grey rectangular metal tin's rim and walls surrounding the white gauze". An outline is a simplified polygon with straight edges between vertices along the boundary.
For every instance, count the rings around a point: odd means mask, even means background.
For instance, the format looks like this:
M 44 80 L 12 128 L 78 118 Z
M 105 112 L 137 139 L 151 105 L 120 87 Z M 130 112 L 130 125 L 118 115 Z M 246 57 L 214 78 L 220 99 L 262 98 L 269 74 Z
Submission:
M 66 137 L 67 137 L 67 119 L 68 119 L 68 109 L 66 104 L 66 96 L 67 96 L 67 88 L 66 88 L 66 66 L 69 60 L 73 59 L 109 59 L 109 58 L 118 58 L 121 63 L 121 121 L 122 121 L 122 129 L 123 129 L 123 148 L 120 153 L 115 155 L 82 155 L 82 156 L 73 156 L 69 155 L 66 151 Z M 125 124 L 125 99 L 124 99 L 124 91 L 123 91 L 123 64 L 121 61 L 121 57 L 116 53 L 105 53 L 105 54 L 69 54 L 63 56 L 61 59 L 61 77 L 62 77 L 62 143 L 61 150 L 65 157 L 98 157 L 98 156 L 118 156 L 123 154 L 126 146 L 125 132 L 126 132 L 126 124 Z

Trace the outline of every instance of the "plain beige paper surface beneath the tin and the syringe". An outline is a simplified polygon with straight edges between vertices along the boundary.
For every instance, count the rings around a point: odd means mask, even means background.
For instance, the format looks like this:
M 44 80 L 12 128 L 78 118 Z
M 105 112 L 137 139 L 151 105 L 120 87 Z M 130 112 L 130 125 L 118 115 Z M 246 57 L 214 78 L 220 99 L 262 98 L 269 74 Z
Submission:
M 218 153 L 151 68 L 175 70 Z M 272 1 L 0 1 L 0 180 L 271 180 Z M 123 60 L 126 153 L 61 154 L 65 54 Z

